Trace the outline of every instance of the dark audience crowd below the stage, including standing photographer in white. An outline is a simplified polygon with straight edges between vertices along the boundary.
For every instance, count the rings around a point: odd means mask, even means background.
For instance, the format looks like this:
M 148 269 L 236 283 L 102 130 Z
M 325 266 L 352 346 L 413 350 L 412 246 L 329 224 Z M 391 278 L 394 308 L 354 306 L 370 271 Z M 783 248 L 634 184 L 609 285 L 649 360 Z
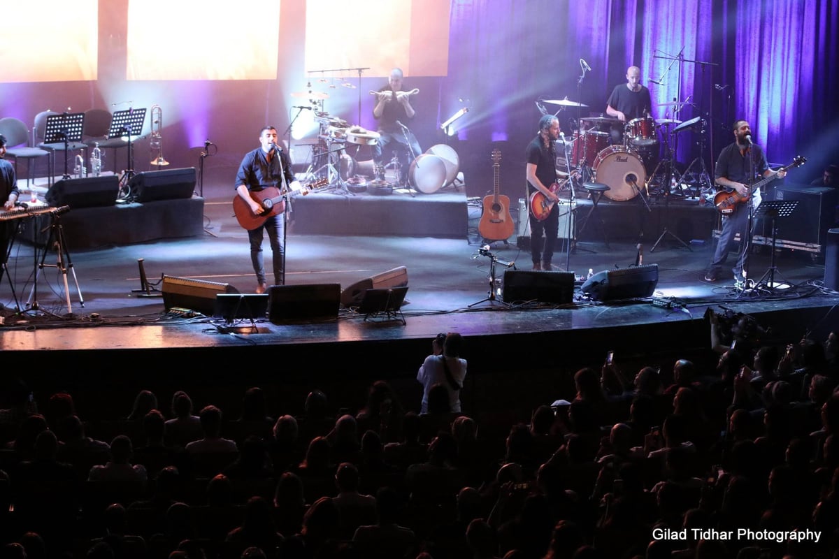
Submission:
M 711 316 L 716 370 L 578 370 L 576 395 L 498 440 L 461 409 L 459 335 L 417 364 L 421 401 L 378 380 L 355 411 L 319 390 L 274 409 L 252 387 L 227 417 L 141 391 L 104 422 L 18 380 L 0 559 L 837 558 L 836 334 L 759 332 Z

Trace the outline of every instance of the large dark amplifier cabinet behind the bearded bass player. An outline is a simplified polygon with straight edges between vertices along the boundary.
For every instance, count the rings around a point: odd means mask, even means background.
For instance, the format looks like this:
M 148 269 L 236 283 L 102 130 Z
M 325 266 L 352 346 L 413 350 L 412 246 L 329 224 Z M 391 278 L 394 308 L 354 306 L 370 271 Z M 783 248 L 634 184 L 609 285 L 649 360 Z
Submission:
M 798 200 L 789 217 L 776 220 L 777 239 L 805 245 L 825 246 L 827 230 L 836 225 L 836 190 L 805 184 L 779 185 L 775 200 Z M 772 219 L 758 218 L 756 236 L 772 239 Z

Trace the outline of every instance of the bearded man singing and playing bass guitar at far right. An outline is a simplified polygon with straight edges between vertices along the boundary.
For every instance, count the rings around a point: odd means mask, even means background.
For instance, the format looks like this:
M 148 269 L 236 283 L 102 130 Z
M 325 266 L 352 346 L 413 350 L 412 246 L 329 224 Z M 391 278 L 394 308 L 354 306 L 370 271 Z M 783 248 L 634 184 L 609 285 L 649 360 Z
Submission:
M 750 213 L 760 205 L 760 188 L 752 188 L 751 185 L 758 177 L 783 179 L 786 171 L 773 171 L 769 168 L 763 148 L 752 142 L 752 129 L 748 122 L 743 120 L 734 122 L 733 130 L 734 142 L 722 148 L 720 157 L 717 159 L 714 182 L 723 189 L 736 192 L 747 203 L 740 204 L 733 212 L 722 215 L 722 233 L 711 265 L 706 272 L 705 281 L 717 282 L 721 279 L 722 266 L 727 261 L 729 246 L 739 233 L 740 247 L 732 272 L 735 287 L 742 287 L 746 279 L 743 275 L 743 267 L 751 245 L 754 226 L 754 220 L 750 220 L 749 217 Z M 752 230 L 749 229 L 750 226 Z

